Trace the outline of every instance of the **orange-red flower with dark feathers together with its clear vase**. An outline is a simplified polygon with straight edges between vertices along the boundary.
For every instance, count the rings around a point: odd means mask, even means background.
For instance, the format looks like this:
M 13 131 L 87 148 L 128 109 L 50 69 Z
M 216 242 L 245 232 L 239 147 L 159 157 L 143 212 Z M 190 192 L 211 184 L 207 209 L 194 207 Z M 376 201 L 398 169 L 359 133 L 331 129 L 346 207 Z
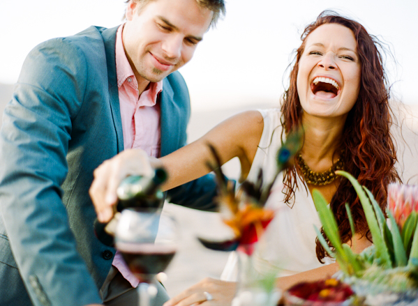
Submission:
M 277 175 L 293 165 L 294 155 L 301 145 L 301 137 L 301 129 L 290 133 L 278 150 L 277 170 L 273 181 L 264 184 L 262 169 L 260 169 L 257 181 L 254 183 L 244 181 L 238 192 L 235 192 L 234 183 L 228 181 L 223 175 L 216 149 L 208 144 L 215 160 L 214 164 L 207 163 L 207 166 L 216 174 L 218 210 L 223 222 L 232 229 L 233 238 L 223 241 L 198 239 L 211 250 L 237 251 L 239 284 L 236 298 L 232 302 L 233 306 L 276 305 L 280 297 L 275 290 L 276 272 L 270 271 L 268 275 L 260 275 L 253 266 L 252 255 L 255 244 L 274 218 L 275 212 L 264 207 L 271 188 Z

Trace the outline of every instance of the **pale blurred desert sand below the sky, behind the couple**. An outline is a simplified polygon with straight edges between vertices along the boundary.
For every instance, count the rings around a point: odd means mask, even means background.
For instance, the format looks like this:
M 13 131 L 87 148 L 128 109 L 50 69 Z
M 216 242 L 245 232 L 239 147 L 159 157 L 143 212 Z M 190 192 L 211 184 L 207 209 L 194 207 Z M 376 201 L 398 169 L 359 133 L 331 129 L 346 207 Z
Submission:
M 13 94 L 13 85 L 0 84 L 0 112 Z M 248 109 L 276 107 L 275 102 L 257 102 L 253 105 L 243 104 L 240 107 L 224 108 L 207 111 L 193 111 L 188 125 L 188 141 L 191 142 L 204 135 L 216 124 L 221 123 L 234 114 Z M 394 126 L 394 133 L 398 146 L 398 170 L 404 182 L 418 183 L 418 107 L 411 105 L 398 105 L 394 103 L 399 126 Z M 1 124 L 1 118 L 0 118 Z M 401 132 L 402 131 L 402 132 Z M 239 176 L 239 161 L 230 160 L 223 166 L 223 171 L 230 178 Z M 223 225 L 218 213 L 195 211 L 174 204 L 165 204 L 165 212 L 176 218 L 180 227 L 179 250 L 172 263 L 165 271 L 167 280 L 164 285 L 170 296 L 175 296 L 204 277 L 219 278 L 227 261 L 227 252 L 207 250 L 200 245 L 197 236 L 222 238 L 230 234 Z

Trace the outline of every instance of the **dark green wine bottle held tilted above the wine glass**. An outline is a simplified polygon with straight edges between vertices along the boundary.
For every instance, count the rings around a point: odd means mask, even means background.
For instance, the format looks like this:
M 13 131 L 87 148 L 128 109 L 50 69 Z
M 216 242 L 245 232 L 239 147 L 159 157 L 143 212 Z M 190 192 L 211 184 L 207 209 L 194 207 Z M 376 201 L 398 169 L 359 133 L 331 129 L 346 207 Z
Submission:
M 117 189 L 117 212 L 126 208 L 137 211 L 157 211 L 163 207 L 164 194 L 161 185 L 167 179 L 167 172 L 163 168 L 156 168 L 153 176 L 128 176 L 121 181 Z M 94 220 L 94 233 L 104 245 L 114 246 L 114 229 L 118 213 L 115 213 L 110 222 L 102 223 Z

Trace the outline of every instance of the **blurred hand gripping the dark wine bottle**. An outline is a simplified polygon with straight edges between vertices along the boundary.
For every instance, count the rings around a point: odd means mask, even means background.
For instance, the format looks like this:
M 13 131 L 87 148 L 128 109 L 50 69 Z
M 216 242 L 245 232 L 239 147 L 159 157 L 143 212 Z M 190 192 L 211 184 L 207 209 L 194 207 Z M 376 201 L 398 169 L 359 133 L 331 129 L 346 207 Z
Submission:
M 108 222 L 112 219 L 112 206 L 117 204 L 116 190 L 126 176 L 152 174 L 150 158 L 141 149 L 125 150 L 114 158 L 105 160 L 94 170 L 94 181 L 89 190 L 98 221 Z

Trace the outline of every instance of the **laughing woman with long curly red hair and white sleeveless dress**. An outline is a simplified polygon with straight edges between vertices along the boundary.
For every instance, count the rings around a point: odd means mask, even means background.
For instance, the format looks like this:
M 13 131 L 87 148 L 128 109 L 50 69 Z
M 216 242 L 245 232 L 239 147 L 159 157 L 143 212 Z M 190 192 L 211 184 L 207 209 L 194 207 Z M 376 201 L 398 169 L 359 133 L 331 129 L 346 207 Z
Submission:
M 239 158 L 240 180 L 254 180 L 255 172 L 262 167 L 264 181 L 270 181 L 281 138 L 303 125 L 304 143 L 295 158 L 295 167 L 277 179 L 267 202 L 279 209 L 265 234 L 269 250 L 258 252 L 260 263 L 269 265 L 276 257 L 281 259 L 282 275 L 286 275 L 278 277 L 281 289 L 324 278 L 338 270 L 337 263 L 322 264 L 327 254 L 315 242 L 312 224 L 320 223 L 311 198 L 313 188 L 329 201 L 345 243 L 354 252 L 370 245 L 357 194 L 347 180 L 334 176 L 328 179 L 329 173 L 335 169 L 350 172 L 371 190 L 382 208 L 388 183 L 399 179 L 394 169 L 396 151 L 389 133 L 389 86 L 378 51 L 380 44 L 358 22 L 329 11 L 306 27 L 301 40 L 281 110 L 238 114 L 193 144 L 153 161 L 163 163 L 169 171 L 170 180 L 164 188 L 174 188 L 208 172 L 205 161 L 211 159 L 207 147 L 210 142 L 216 146 L 222 163 Z M 149 171 L 147 162 L 139 165 L 138 159 L 146 158 L 140 151 L 126 151 L 96 170 L 91 197 L 99 219 L 110 218 L 109 205 L 116 201 L 114 190 L 122 177 Z M 132 169 L 134 163 L 137 169 Z M 310 171 L 318 175 L 311 176 Z M 108 190 L 107 205 L 103 205 L 104 193 L 98 190 Z M 345 213 L 346 202 L 358 233 L 354 237 Z M 208 278 L 165 305 L 206 305 L 207 292 L 213 298 L 211 305 L 230 305 L 234 291 L 235 282 Z

